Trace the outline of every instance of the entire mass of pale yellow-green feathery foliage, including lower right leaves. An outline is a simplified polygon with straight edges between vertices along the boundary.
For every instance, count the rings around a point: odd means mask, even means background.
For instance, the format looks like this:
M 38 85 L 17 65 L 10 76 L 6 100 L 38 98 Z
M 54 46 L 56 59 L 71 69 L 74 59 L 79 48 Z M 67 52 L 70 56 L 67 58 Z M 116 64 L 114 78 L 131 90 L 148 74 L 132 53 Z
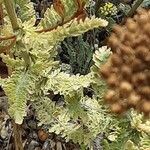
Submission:
M 36 110 L 39 125 L 45 124 L 49 132 L 60 134 L 66 141 L 93 148 L 93 140 L 102 133 L 105 140 L 101 144 L 106 150 L 149 147 L 149 122 L 132 111 L 116 118 L 103 105 L 107 86 L 102 78 L 99 81 L 99 69 L 111 55 L 109 48 L 102 47 L 95 52 L 95 64 L 87 75 L 61 72 L 56 60 L 59 42 L 93 28 L 105 27 L 108 22 L 95 17 L 85 18 L 83 0 L 60 0 L 60 5 L 54 3 L 38 27 L 33 27 L 29 1 L 15 2 L 21 8 L 19 29 L 13 32 L 6 14 L 4 19 L 9 30 L 0 33 L 1 39 L 13 41 L 9 46 L 4 43 L 5 51 L 0 56 L 11 70 L 8 78 L 0 78 L 0 85 L 8 97 L 8 112 L 12 119 L 22 124 L 29 101 Z M 27 11 L 28 7 L 31 13 Z M 84 94 L 84 88 L 89 86 L 94 90 L 91 97 Z M 63 104 L 52 101 L 50 91 L 61 95 Z

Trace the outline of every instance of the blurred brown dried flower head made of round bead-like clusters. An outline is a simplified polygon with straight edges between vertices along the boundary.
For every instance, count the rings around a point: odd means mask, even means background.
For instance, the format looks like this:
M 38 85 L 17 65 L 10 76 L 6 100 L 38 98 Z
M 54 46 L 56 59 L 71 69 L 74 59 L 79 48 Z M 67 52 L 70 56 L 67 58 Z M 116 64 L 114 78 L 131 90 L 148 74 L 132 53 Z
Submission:
M 108 40 L 113 54 L 101 68 L 109 90 L 105 100 L 112 112 L 134 107 L 150 116 L 150 10 L 138 10 Z

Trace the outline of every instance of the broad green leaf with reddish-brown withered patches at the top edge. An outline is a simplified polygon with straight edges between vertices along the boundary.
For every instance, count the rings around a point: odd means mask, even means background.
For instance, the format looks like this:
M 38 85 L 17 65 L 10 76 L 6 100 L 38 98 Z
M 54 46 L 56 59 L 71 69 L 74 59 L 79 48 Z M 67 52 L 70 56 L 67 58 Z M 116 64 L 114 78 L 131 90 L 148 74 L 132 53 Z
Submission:
M 60 24 L 63 24 L 63 22 L 68 22 L 72 20 L 72 16 L 75 14 L 77 9 L 78 7 L 75 0 L 60 0 L 59 4 L 54 2 L 51 8 L 47 9 L 45 12 L 44 18 L 41 20 L 38 28 L 42 27 L 44 30 L 52 29 Z M 62 10 L 63 16 L 61 16 L 57 10 Z

